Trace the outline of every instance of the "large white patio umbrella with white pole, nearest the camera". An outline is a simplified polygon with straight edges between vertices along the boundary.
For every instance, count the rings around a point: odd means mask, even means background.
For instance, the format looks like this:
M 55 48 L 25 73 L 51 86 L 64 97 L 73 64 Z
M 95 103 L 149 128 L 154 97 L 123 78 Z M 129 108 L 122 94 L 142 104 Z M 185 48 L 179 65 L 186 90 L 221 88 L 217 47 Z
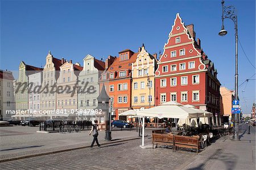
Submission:
M 185 107 L 181 103 L 170 101 L 150 109 L 138 110 L 137 114 L 138 116 L 143 117 L 141 147 L 144 147 L 144 117 L 190 119 L 202 117 L 204 112 L 200 110 L 193 110 L 191 108 Z

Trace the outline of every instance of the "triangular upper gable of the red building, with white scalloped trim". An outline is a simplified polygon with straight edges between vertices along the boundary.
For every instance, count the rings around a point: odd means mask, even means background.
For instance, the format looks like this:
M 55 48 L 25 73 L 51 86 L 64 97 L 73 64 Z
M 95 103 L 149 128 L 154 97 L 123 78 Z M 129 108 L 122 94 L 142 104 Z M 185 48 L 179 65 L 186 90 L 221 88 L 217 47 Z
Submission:
M 162 72 L 161 65 L 169 65 L 170 67 L 171 64 L 177 64 L 177 72 L 187 72 L 188 62 L 190 58 L 197 59 L 193 59 L 196 65 L 195 69 L 190 69 L 189 71 L 205 69 L 205 64 L 203 63 L 203 58 L 201 57 L 203 56 L 201 55 L 203 51 L 201 51 L 200 49 L 200 40 L 198 41 L 199 42 L 195 41 L 195 32 L 193 31 L 193 25 L 191 24 L 189 26 L 184 26 L 184 23 L 182 22 L 179 13 L 177 13 L 167 43 L 164 44 L 164 52 L 158 61 L 159 66 L 156 70 L 155 75 L 160 76 L 162 74 L 175 73 L 174 71 L 170 72 L 170 68 L 168 68 L 168 72 Z M 180 52 L 180 50 L 182 49 L 184 49 L 183 54 L 181 54 Z M 176 55 L 172 56 L 172 52 L 174 51 L 176 51 Z M 185 61 L 180 59 L 188 60 Z M 175 61 L 172 63 L 173 60 Z M 186 62 L 186 69 L 184 71 L 179 71 L 179 63 L 184 62 Z

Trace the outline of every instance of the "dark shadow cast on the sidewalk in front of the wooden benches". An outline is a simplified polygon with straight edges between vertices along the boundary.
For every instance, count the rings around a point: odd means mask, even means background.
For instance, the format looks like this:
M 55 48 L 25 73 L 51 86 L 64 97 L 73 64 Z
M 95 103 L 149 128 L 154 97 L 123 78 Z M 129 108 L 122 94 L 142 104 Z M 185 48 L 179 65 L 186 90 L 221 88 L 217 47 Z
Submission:
M 209 156 L 209 159 L 206 160 L 205 163 L 202 163 L 198 165 L 197 167 L 189 168 L 190 170 L 192 169 L 207 169 L 204 167 L 208 161 L 212 161 L 211 166 L 216 166 L 215 169 L 227 169 L 227 170 L 233 170 L 236 167 L 238 157 L 236 155 L 233 155 L 232 152 L 228 153 L 223 153 L 222 149 L 216 150 L 212 155 Z M 224 167 L 218 167 L 218 164 L 216 164 L 216 161 L 222 161 L 223 164 L 225 165 Z

